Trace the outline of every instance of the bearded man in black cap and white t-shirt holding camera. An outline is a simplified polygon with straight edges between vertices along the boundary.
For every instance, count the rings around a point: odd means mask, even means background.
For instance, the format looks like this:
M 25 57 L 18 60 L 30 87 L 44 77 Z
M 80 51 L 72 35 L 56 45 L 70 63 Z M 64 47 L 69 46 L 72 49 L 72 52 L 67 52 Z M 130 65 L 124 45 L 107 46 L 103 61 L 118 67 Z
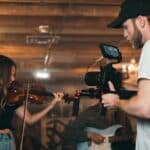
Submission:
M 138 94 L 129 101 L 115 94 L 103 95 L 105 107 L 118 107 L 137 118 L 136 150 L 150 150 L 150 0 L 125 0 L 118 18 L 108 25 L 123 27 L 133 48 L 142 48 L 138 70 Z M 114 87 L 109 82 L 111 91 Z

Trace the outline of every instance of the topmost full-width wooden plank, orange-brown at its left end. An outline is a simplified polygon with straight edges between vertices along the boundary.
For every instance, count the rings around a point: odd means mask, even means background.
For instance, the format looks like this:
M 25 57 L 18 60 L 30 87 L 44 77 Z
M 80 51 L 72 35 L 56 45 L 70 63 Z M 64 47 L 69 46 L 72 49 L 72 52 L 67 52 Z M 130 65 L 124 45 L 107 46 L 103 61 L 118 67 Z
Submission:
M 12 16 L 93 16 L 115 17 L 118 6 L 109 5 L 37 5 L 37 4 L 1 4 L 0 15 Z

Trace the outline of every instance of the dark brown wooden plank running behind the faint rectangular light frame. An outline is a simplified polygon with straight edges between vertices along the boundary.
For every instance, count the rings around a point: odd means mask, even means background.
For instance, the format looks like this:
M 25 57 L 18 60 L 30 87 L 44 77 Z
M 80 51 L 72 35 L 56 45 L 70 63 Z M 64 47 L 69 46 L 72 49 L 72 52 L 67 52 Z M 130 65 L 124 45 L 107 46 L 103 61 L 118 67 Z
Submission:
M 36 36 L 41 36 L 41 34 L 35 34 Z M 27 34 L 1 34 L 0 43 L 1 45 L 26 45 L 26 36 Z M 121 36 L 101 36 L 101 35 L 61 35 L 60 41 L 58 45 L 65 46 L 65 45 L 98 45 L 100 43 L 112 43 L 115 41 L 117 44 L 127 45 L 127 42 Z M 50 37 L 50 35 L 43 35 L 43 37 Z M 121 41 L 120 41 L 121 40 Z M 119 42 L 120 41 L 120 42 Z M 118 43 L 119 42 L 119 43 Z M 38 45 L 40 46 L 40 45 Z M 42 46 L 42 45 L 41 45 Z M 45 45 L 46 46 L 46 45 Z

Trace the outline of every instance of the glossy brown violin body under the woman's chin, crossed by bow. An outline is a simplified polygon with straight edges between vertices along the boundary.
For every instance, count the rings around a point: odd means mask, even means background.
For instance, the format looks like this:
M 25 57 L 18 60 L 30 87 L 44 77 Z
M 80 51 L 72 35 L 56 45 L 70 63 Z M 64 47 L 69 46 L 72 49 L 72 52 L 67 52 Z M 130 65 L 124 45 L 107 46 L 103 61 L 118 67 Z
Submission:
M 31 86 L 29 91 L 23 87 L 21 83 L 18 81 L 13 81 L 8 86 L 8 93 L 7 93 L 7 101 L 9 104 L 16 104 L 24 101 L 27 97 L 28 92 L 28 101 L 36 104 L 42 104 L 47 97 L 54 98 L 52 92 L 46 90 L 44 86 L 41 85 L 34 85 Z

